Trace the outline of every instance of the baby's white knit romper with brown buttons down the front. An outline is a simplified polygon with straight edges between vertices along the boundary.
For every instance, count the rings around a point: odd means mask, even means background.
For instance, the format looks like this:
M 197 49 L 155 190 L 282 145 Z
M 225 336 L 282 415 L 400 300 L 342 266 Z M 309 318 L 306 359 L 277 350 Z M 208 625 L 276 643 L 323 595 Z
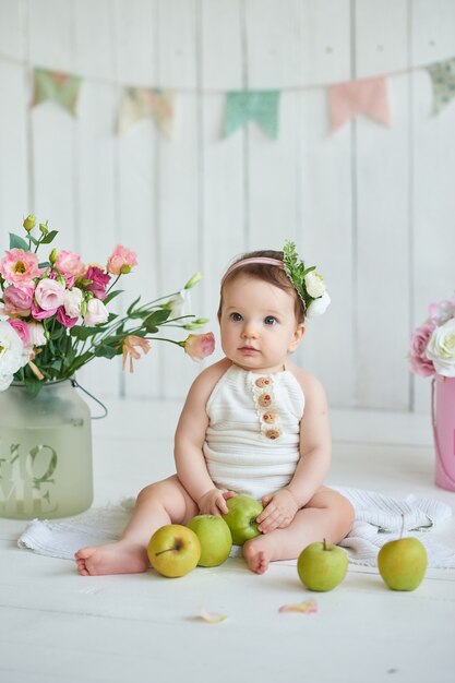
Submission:
M 262 375 L 231 366 L 206 405 L 204 443 L 215 486 L 262 499 L 292 478 L 304 396 L 289 370 Z

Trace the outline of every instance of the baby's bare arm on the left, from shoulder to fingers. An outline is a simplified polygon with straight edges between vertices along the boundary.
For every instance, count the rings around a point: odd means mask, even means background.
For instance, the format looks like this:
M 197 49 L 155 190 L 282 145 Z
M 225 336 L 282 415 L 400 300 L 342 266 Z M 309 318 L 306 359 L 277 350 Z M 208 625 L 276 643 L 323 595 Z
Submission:
M 175 440 L 177 475 L 197 504 L 202 514 L 227 513 L 226 499 L 232 492 L 223 492 L 215 487 L 207 470 L 203 454 L 208 417 L 205 409 L 213 387 L 226 372 L 226 360 L 211 366 L 195 379 L 187 396 Z

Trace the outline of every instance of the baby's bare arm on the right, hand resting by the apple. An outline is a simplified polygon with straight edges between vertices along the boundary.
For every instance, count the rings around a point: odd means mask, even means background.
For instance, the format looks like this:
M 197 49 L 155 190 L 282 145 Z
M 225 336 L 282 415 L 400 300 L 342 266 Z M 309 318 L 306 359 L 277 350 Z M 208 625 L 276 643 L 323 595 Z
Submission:
M 325 391 L 315 378 L 299 369 L 295 374 L 301 384 L 306 408 L 300 422 L 300 459 L 287 487 L 265 495 L 265 510 L 258 517 L 259 529 L 270 532 L 288 526 L 323 483 L 332 457 L 332 439 Z

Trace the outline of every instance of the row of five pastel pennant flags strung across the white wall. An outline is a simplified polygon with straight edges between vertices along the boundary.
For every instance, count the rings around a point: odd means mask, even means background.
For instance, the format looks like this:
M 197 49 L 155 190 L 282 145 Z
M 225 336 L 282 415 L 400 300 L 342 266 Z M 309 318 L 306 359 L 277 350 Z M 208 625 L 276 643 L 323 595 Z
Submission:
M 455 98 L 455 57 L 422 68 L 431 77 L 433 115 L 436 116 Z M 81 76 L 35 67 L 33 84 L 33 107 L 52 100 L 72 116 L 76 116 L 83 84 Z M 385 76 L 334 83 L 327 85 L 326 89 L 332 132 L 336 132 L 359 115 L 383 125 L 392 125 Z M 277 140 L 280 93 L 279 89 L 226 92 L 224 137 L 228 137 L 252 121 L 271 140 Z M 137 121 L 151 118 L 169 139 L 172 137 L 176 99 L 177 92 L 172 89 L 123 86 L 118 112 L 118 132 L 124 133 Z

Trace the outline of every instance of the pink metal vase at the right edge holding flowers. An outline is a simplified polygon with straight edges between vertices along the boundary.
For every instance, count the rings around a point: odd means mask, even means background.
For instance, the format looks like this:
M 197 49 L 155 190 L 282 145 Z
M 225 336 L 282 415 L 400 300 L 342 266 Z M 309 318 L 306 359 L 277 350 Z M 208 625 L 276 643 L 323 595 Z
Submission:
M 432 422 L 436 452 L 435 482 L 455 491 L 455 378 L 432 381 Z

